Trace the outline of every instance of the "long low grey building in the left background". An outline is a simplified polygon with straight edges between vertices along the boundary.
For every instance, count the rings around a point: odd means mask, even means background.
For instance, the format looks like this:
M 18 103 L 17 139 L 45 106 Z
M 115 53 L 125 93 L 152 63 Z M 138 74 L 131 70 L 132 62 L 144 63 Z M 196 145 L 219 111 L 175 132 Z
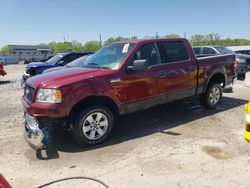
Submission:
M 2 55 L 5 64 L 17 64 L 19 61 L 41 61 L 55 55 L 53 47 L 48 45 L 8 45 L 9 55 Z

